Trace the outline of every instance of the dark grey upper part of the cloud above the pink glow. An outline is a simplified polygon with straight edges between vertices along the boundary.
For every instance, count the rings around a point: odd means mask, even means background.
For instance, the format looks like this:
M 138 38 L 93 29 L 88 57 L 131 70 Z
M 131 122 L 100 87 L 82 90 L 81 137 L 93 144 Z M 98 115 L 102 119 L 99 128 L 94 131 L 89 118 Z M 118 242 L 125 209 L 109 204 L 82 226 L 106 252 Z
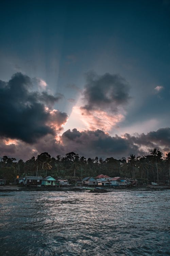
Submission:
M 106 73 L 98 76 L 89 72 L 86 79 L 87 84 L 83 92 L 85 105 L 82 109 L 101 109 L 116 113 L 118 108 L 130 99 L 129 85 L 120 75 Z

